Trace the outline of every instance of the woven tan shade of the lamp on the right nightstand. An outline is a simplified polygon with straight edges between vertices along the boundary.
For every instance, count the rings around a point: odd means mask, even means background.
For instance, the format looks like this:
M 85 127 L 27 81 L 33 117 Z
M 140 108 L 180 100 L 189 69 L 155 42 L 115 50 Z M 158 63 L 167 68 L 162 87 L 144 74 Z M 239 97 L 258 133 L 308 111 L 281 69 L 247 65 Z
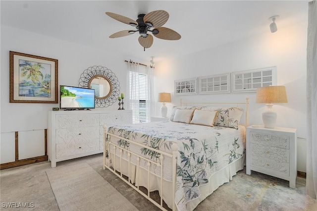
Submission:
M 284 86 L 268 86 L 257 89 L 258 104 L 287 103 L 286 89 Z

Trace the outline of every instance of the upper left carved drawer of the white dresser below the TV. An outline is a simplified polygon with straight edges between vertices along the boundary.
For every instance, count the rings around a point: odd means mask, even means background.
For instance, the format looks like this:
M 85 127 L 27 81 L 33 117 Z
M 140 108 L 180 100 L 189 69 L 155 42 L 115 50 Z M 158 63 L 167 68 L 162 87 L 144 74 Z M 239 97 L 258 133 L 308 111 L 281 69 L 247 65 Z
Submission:
M 57 115 L 56 129 L 98 126 L 99 114 Z

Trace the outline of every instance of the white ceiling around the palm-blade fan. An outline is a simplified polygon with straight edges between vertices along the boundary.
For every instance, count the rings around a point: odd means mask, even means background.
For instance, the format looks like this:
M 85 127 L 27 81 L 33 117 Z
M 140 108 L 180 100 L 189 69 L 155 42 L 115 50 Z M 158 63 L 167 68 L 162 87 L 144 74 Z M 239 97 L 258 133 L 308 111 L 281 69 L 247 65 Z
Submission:
M 277 28 L 307 21 L 309 0 L 1 0 L 1 24 L 79 43 L 132 58 L 155 60 L 202 51 L 269 32 L 269 17 L 279 15 Z M 144 51 L 138 33 L 110 39 L 135 28 L 114 20 L 106 11 L 136 20 L 154 10 L 169 13 L 163 25 L 178 32 L 177 41 L 154 37 Z M 130 57 L 127 57 L 129 59 Z

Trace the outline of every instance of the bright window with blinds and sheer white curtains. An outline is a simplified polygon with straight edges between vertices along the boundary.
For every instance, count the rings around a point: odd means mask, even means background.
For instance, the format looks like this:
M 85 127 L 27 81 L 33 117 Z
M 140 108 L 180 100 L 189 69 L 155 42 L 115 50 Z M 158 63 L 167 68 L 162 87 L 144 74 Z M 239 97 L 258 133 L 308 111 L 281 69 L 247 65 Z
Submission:
M 133 123 L 149 122 L 155 113 L 154 76 L 152 68 L 128 62 L 128 109 Z

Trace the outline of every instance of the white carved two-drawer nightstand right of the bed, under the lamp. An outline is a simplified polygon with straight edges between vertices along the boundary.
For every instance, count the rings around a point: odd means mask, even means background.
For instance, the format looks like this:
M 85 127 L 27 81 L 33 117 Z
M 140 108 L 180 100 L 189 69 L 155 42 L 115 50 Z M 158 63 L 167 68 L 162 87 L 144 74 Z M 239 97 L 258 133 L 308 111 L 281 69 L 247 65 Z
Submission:
M 289 181 L 296 187 L 297 135 L 293 128 L 247 127 L 247 174 L 251 170 Z

